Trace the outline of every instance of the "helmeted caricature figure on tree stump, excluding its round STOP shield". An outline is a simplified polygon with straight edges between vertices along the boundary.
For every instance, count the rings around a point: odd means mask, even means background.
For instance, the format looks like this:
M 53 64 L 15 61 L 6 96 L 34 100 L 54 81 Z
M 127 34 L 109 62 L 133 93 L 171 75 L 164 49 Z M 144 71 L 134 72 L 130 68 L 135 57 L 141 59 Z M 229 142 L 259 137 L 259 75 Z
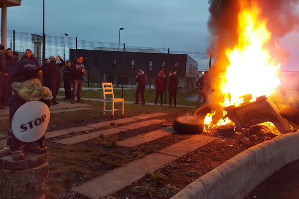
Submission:
M 50 107 L 52 94 L 47 87 L 43 87 L 41 85 L 40 78 L 42 77 L 42 70 L 42 68 L 36 66 L 31 60 L 17 61 L 9 68 L 13 95 L 8 100 L 9 129 L 7 145 L 9 145 L 12 159 L 15 161 L 25 159 L 23 152 L 24 150 L 38 154 L 47 152 L 44 132 L 43 135 L 37 140 L 24 142 L 16 138 L 16 133 L 14 133 L 12 130 L 12 120 L 15 116 L 15 113 L 26 102 L 41 101 Z M 25 127 L 23 126 L 23 129 L 24 128 Z

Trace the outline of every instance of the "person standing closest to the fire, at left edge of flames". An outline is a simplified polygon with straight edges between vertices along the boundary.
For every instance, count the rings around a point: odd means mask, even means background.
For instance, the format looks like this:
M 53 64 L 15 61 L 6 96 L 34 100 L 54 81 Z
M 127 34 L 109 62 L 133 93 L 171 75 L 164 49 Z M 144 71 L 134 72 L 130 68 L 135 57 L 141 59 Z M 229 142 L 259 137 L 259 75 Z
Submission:
M 210 79 L 208 77 L 209 72 L 205 71 L 203 76 L 201 76 L 197 82 L 196 86 L 199 87 L 198 99 L 197 99 L 197 107 L 200 106 L 200 100 L 203 98 L 203 104 L 206 104 L 208 101 L 208 90 L 210 88 Z

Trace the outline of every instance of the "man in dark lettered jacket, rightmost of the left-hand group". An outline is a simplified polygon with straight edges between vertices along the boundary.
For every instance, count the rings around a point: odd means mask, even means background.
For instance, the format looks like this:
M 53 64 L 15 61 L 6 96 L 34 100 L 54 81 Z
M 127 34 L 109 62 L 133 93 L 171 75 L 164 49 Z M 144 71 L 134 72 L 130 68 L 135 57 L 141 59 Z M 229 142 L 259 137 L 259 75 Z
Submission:
M 71 103 L 75 103 L 75 96 L 77 96 L 77 102 L 81 102 L 81 92 L 83 87 L 83 75 L 87 74 L 85 66 L 83 64 L 83 57 L 78 56 L 76 62 L 71 65 L 73 92 Z

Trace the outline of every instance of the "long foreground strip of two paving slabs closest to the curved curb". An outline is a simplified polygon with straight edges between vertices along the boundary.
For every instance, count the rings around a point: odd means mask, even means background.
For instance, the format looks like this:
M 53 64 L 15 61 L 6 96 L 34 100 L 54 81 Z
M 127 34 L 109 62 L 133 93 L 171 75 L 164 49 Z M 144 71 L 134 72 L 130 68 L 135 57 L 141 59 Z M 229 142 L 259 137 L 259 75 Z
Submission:
M 155 171 L 165 164 L 173 162 L 179 157 L 215 139 L 214 137 L 202 134 L 192 136 L 186 140 L 170 145 L 158 153 L 149 154 L 144 158 L 130 162 L 120 168 L 83 183 L 78 187 L 74 187 L 73 191 L 91 199 L 105 198 L 143 178 L 147 172 Z M 185 148 L 187 148 L 187 150 Z

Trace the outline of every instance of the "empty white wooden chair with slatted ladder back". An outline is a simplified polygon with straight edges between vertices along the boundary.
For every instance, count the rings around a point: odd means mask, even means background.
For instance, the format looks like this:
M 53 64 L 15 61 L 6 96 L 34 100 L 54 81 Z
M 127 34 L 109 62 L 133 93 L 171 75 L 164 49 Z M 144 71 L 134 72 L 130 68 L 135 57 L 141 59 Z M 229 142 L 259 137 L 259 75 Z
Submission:
M 114 111 L 119 110 L 119 109 L 114 108 L 115 102 L 123 103 L 123 114 L 124 114 L 124 99 L 123 98 L 114 98 L 112 83 L 102 82 L 102 88 L 103 88 L 103 96 L 104 96 L 104 114 L 106 113 L 106 111 L 112 111 L 112 115 L 114 116 Z M 107 98 L 106 95 L 112 95 L 112 98 Z M 106 109 L 106 102 L 112 102 L 112 109 Z

